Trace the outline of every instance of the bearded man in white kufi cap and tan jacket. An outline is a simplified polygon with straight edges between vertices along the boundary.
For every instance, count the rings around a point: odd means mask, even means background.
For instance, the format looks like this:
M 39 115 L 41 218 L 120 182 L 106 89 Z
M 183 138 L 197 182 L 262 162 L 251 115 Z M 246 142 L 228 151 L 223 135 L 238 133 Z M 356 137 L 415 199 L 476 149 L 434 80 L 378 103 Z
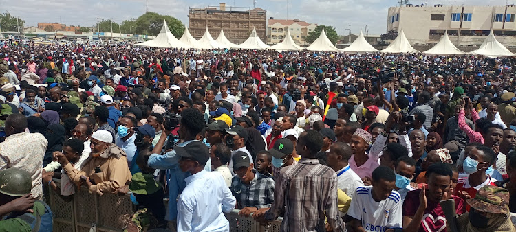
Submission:
M 106 192 L 116 193 L 118 188 L 131 182 L 127 155 L 122 148 L 113 143 L 113 135 L 110 132 L 94 132 L 89 147 L 92 148 L 92 154 L 80 171 L 74 169 L 63 154 L 54 154 L 54 159 L 61 163 L 61 167 L 76 185 L 80 186 L 85 182 L 90 193 L 103 195 Z

